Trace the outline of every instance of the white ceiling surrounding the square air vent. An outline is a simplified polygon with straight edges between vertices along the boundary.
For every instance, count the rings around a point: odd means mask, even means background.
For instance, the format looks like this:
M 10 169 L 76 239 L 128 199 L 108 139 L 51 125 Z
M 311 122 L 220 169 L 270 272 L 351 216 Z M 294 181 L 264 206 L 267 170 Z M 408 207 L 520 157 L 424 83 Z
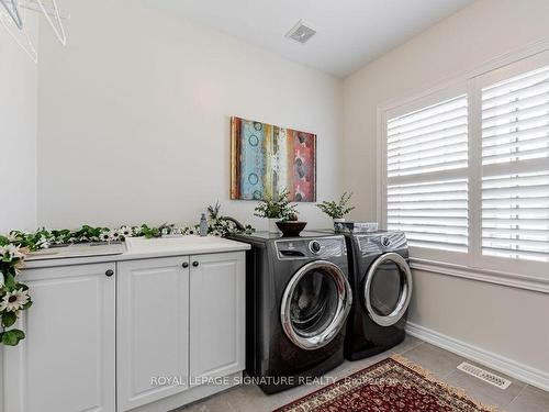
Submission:
M 345 77 L 473 0 L 155 0 L 170 12 Z M 306 44 L 284 34 L 303 19 Z

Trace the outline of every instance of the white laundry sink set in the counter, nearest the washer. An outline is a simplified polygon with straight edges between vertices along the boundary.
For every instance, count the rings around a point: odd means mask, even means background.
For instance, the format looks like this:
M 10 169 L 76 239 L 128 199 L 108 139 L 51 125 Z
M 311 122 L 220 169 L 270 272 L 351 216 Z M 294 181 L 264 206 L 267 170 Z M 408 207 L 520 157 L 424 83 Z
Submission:
M 242 243 L 217 236 L 187 235 L 180 237 L 128 237 L 125 240 L 128 254 L 181 254 L 208 253 L 242 248 Z

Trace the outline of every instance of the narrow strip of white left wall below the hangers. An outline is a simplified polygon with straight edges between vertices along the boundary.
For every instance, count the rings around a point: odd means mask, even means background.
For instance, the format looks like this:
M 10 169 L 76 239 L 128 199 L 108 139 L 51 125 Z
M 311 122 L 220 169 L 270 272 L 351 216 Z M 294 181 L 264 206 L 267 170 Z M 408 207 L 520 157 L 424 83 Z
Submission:
M 26 27 L 37 38 L 37 20 Z M 37 45 L 36 45 L 37 46 Z M 36 65 L 0 25 L 0 233 L 36 226 Z

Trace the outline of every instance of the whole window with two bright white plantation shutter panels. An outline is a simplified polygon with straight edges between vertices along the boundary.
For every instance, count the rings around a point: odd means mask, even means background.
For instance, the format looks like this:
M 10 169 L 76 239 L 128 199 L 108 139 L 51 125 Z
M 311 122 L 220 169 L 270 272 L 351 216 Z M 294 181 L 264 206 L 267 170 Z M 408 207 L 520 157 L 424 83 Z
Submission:
M 413 257 L 531 271 L 549 261 L 549 52 L 452 89 L 383 112 L 381 222 Z

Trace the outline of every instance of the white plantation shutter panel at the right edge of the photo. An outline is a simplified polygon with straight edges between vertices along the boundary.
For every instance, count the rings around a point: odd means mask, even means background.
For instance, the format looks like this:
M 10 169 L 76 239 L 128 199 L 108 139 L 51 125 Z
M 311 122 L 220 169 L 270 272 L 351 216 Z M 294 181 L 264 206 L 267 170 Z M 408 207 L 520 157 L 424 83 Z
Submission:
M 482 89 L 482 253 L 549 261 L 549 66 Z

